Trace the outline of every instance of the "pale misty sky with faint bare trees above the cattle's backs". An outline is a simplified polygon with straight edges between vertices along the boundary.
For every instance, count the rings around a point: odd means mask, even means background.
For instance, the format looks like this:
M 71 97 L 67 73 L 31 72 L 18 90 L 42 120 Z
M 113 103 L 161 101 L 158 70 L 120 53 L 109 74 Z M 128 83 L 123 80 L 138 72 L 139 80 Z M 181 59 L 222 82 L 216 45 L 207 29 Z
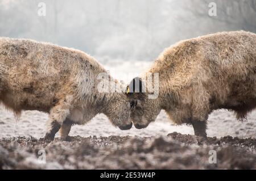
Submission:
M 39 16 L 39 2 L 46 16 Z M 209 16 L 215 2 L 217 16 Z M 0 0 L 0 36 L 49 41 L 101 61 L 152 61 L 176 41 L 218 31 L 256 32 L 253 0 Z

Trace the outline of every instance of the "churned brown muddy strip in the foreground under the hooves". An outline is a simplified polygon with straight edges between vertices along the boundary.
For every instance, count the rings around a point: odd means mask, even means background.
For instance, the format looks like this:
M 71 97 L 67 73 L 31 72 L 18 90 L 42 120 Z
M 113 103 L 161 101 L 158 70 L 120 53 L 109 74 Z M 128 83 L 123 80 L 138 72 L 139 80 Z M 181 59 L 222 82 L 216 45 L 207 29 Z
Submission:
M 34 137 L 1 138 L 0 169 L 256 169 L 255 146 L 256 139 L 230 136 L 209 137 L 198 145 L 195 136 L 177 132 L 75 136 L 49 144 Z M 212 163 L 214 151 L 217 163 Z

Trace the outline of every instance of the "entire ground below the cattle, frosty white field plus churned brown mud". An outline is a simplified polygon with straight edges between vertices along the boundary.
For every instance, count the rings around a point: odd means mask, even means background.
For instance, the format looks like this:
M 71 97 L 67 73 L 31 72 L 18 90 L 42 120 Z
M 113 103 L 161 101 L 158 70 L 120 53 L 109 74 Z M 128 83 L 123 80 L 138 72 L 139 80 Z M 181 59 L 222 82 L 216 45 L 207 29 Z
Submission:
M 15 120 L 0 107 L 0 169 L 256 169 L 256 111 L 244 123 L 233 112 L 214 111 L 202 145 L 191 136 L 191 126 L 174 125 L 164 112 L 147 128 L 129 131 L 114 128 L 100 114 L 72 127 L 71 142 L 57 134 L 47 144 L 40 139 L 47 116 L 24 111 Z

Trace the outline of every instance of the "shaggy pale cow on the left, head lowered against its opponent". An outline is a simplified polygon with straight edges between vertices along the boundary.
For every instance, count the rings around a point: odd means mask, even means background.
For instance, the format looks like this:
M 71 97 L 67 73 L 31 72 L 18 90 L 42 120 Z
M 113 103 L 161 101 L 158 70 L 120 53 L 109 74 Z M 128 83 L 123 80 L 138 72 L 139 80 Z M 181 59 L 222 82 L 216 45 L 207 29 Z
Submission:
M 102 73 L 107 72 L 79 50 L 0 37 L 0 101 L 16 116 L 22 110 L 49 113 L 48 141 L 59 129 L 66 140 L 72 124 L 84 124 L 97 113 L 114 126 L 131 128 L 125 93 L 98 91 Z

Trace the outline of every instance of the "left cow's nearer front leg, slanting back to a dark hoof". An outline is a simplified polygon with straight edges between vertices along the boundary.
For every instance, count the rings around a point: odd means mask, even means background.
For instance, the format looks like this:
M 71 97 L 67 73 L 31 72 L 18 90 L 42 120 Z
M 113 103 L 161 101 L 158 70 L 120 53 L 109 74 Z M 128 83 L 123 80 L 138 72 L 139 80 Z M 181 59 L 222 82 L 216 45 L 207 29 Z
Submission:
M 49 113 L 47 121 L 47 133 L 44 140 L 49 142 L 54 140 L 55 134 L 59 131 L 63 121 L 69 115 L 69 107 L 67 104 L 59 104 L 53 107 Z

